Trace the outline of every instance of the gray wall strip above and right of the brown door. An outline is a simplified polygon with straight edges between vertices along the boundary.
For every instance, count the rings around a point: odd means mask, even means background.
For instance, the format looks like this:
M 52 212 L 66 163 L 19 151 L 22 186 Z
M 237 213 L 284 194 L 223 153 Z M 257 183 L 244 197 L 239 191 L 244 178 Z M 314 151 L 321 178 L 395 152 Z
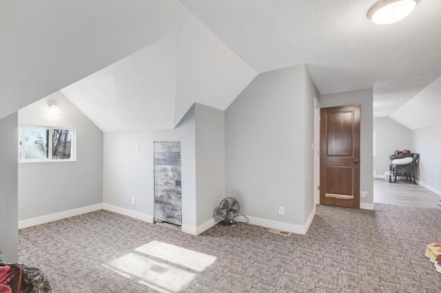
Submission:
M 320 96 L 320 107 L 360 105 L 360 191 L 367 196 L 360 199 L 360 205 L 373 204 L 373 90 L 360 89 Z

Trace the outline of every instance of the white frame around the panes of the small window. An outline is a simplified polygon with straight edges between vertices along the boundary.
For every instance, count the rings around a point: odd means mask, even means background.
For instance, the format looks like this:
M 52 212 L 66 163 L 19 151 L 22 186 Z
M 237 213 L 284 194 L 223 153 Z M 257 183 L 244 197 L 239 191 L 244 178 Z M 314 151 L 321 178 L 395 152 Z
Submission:
M 26 159 L 25 158 L 25 135 L 26 129 L 41 129 L 43 131 L 48 130 L 48 158 L 38 158 L 38 159 Z M 52 133 L 53 129 L 63 129 L 72 131 L 72 141 L 70 142 L 70 159 L 52 159 Z M 30 163 L 30 162 L 76 162 L 76 129 L 69 127 L 54 127 L 54 126 L 41 126 L 41 125 L 28 125 L 21 124 L 19 127 L 19 162 L 20 163 Z

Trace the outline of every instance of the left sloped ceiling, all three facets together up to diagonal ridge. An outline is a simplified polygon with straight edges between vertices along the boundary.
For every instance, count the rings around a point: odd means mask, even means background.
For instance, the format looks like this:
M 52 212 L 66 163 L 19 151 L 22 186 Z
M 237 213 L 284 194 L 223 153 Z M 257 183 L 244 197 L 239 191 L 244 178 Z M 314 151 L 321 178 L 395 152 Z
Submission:
M 2 3 L 2 69 L 16 72 L 1 71 L 0 117 L 61 89 L 102 131 L 172 129 L 258 74 L 179 1 L 37 2 Z

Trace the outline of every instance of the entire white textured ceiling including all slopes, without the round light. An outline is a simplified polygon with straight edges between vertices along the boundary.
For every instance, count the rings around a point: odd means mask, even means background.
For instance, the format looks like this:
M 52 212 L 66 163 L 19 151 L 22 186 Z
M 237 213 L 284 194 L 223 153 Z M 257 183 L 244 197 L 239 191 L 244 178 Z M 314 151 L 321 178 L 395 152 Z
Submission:
M 438 105 L 441 1 L 391 25 L 367 19 L 375 1 L 3 0 L 0 118 L 61 89 L 103 131 L 172 128 L 304 63 L 320 94 L 373 87 L 374 116 L 399 121 Z

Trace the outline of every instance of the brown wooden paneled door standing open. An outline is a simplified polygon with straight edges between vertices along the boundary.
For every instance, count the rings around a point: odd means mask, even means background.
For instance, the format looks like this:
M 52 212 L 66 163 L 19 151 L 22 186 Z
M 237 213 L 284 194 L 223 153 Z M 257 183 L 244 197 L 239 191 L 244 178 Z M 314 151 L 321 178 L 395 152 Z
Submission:
M 320 109 L 320 204 L 360 208 L 360 105 Z

